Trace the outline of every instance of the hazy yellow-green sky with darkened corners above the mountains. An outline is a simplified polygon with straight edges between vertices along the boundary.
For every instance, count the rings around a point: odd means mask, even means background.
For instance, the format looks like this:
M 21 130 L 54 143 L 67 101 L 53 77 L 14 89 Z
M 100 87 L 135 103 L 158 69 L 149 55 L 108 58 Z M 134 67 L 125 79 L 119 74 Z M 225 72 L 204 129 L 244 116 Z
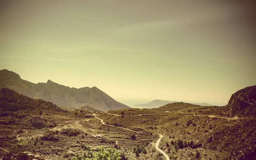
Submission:
M 256 85 L 253 0 L 0 0 L 0 70 L 129 106 Z

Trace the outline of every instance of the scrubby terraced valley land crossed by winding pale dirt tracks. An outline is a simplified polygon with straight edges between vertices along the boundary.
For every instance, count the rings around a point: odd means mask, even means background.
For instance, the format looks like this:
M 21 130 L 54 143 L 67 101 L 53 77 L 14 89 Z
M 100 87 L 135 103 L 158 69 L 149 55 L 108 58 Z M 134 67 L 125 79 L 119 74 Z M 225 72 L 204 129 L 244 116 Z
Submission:
M 68 111 L 2 89 L 0 107 L 3 160 L 21 153 L 39 160 L 71 160 L 100 146 L 116 148 L 122 160 L 253 160 L 255 155 L 254 117 L 231 116 L 229 105 L 175 102 L 104 113 Z

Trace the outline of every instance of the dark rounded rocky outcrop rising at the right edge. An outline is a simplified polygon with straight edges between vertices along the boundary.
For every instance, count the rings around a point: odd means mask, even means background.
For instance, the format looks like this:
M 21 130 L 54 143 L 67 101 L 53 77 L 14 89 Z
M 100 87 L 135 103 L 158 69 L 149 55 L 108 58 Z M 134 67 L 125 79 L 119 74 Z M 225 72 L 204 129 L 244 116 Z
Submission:
M 231 116 L 255 117 L 256 116 L 256 85 L 246 87 L 234 93 L 228 104 Z

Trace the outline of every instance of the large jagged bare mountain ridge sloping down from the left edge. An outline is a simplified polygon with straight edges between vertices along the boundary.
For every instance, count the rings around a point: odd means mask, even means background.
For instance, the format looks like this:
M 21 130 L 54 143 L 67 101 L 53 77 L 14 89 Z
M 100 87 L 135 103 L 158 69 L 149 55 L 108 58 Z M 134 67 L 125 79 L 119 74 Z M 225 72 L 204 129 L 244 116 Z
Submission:
M 99 111 L 130 108 L 117 102 L 97 87 L 70 88 L 51 80 L 47 83 L 32 83 L 9 70 L 0 70 L 0 88 L 10 88 L 34 99 L 43 99 L 58 106 L 90 106 Z

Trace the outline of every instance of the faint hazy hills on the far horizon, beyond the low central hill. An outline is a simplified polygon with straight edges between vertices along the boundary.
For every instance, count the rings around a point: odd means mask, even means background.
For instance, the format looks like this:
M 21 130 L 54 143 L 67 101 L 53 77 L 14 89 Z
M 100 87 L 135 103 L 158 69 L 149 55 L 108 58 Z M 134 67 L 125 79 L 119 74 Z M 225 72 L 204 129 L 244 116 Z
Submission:
M 163 100 L 159 100 L 159 99 L 155 99 L 154 101 L 145 103 L 145 104 L 138 104 L 138 105 L 134 105 L 135 107 L 146 107 L 146 108 L 157 108 L 157 107 L 161 107 L 164 105 L 167 105 L 169 103 L 175 103 L 177 101 L 163 101 Z M 208 103 L 190 103 L 193 105 L 201 105 L 201 106 L 213 106 L 210 105 Z

